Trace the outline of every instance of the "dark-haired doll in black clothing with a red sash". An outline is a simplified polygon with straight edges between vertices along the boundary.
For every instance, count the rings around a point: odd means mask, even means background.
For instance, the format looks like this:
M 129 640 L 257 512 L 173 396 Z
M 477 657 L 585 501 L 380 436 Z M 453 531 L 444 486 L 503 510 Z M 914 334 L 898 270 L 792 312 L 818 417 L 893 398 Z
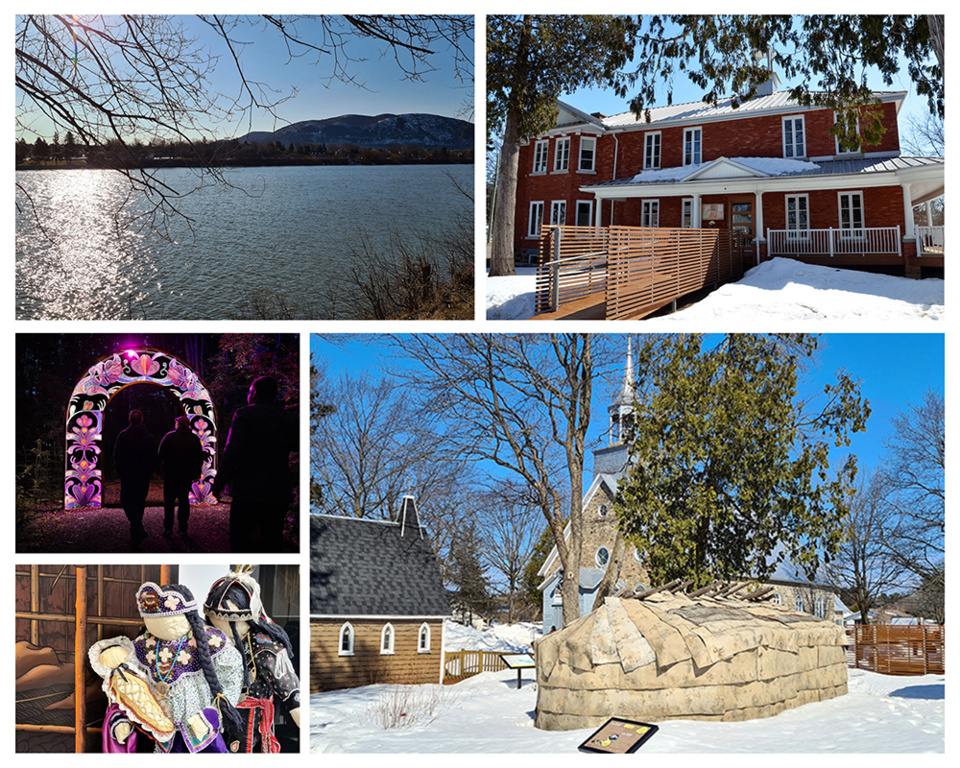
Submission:
M 260 585 L 245 570 L 218 580 L 203 608 L 207 619 L 233 641 L 244 659 L 237 709 L 246 727 L 242 738 L 230 743 L 230 750 L 279 752 L 275 706 L 282 706 L 300 726 L 300 680 L 291 662 L 290 638 L 264 613 Z

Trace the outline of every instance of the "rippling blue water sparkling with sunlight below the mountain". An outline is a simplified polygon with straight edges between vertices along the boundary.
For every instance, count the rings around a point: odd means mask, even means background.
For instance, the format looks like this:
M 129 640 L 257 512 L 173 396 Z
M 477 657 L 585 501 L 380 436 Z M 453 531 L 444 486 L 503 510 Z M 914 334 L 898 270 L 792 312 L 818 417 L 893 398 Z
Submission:
M 326 317 L 326 297 L 364 246 L 442 237 L 467 201 L 473 166 L 247 168 L 204 186 L 172 169 L 184 218 L 110 171 L 17 173 L 18 319 L 249 319 L 280 296 L 294 317 Z M 151 225 L 152 222 L 152 225 Z

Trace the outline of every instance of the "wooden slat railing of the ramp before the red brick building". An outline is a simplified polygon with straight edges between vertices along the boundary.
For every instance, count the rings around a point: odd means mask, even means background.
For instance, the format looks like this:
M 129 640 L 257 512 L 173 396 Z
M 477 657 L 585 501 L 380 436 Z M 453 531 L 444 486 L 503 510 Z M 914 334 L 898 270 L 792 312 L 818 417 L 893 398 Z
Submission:
M 656 227 L 546 227 L 536 311 L 598 294 L 607 319 L 644 317 L 671 301 L 743 274 L 738 232 Z

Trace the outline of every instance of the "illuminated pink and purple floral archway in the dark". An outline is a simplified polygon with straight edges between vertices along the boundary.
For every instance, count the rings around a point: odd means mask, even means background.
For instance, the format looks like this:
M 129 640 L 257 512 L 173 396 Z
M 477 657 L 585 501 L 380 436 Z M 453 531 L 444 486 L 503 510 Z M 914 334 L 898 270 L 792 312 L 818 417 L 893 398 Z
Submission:
M 65 509 L 100 506 L 103 412 L 117 392 L 132 384 L 164 387 L 179 398 L 204 453 L 203 471 L 193 484 L 190 501 L 209 499 L 217 474 L 217 418 L 210 393 L 197 373 L 173 355 L 133 347 L 98 360 L 73 388 L 67 405 Z

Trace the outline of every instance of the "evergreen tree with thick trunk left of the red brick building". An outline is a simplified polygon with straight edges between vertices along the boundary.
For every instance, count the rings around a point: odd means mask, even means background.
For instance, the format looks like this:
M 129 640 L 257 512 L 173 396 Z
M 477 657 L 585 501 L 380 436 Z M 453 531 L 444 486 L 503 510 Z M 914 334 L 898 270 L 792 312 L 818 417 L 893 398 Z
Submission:
M 503 131 L 490 274 L 512 275 L 520 142 L 553 127 L 561 93 L 613 85 L 633 53 L 630 16 L 488 16 L 487 131 Z

